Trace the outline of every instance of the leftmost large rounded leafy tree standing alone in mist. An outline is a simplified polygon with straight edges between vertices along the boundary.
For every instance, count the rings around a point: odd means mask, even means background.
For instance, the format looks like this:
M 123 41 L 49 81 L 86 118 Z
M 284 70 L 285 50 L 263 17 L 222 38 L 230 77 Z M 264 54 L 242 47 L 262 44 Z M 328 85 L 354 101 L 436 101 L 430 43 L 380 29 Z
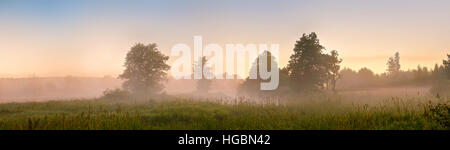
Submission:
M 120 79 L 126 81 L 123 88 L 138 96 L 149 96 L 160 92 L 163 81 L 167 80 L 166 64 L 168 56 L 162 54 L 156 44 L 144 45 L 138 43 L 131 47 L 125 58 L 125 70 Z

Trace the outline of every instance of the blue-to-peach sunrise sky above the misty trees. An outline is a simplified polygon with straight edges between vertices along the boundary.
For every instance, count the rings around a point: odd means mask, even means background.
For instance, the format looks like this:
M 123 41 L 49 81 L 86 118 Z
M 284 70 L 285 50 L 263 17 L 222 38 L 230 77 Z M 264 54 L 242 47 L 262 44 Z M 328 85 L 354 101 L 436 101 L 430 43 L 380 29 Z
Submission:
M 1 0 L 0 77 L 117 76 L 134 44 L 276 43 L 286 66 L 316 32 L 342 66 L 376 73 L 395 52 L 402 70 L 450 53 L 448 0 Z M 169 64 L 176 58 L 169 59 Z

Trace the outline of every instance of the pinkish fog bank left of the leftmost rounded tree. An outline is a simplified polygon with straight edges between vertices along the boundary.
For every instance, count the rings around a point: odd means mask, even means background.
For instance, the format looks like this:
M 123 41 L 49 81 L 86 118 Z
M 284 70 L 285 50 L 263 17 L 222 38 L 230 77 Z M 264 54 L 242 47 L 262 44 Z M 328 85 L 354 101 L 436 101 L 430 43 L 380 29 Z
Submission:
M 107 88 L 118 88 L 112 77 L 1 78 L 0 102 L 84 99 L 100 96 Z

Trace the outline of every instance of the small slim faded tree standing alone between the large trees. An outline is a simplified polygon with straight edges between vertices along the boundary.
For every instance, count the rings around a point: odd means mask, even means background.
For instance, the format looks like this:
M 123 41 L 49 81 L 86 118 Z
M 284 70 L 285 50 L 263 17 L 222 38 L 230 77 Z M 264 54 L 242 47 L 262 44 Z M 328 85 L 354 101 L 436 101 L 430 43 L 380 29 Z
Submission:
M 206 57 L 203 56 L 199 57 L 199 60 L 194 63 L 197 67 L 203 68 L 202 78 L 197 81 L 197 92 L 199 93 L 208 93 L 211 88 L 212 80 L 205 78 L 205 72 L 207 74 L 212 74 L 211 67 L 206 66 L 207 61 Z

